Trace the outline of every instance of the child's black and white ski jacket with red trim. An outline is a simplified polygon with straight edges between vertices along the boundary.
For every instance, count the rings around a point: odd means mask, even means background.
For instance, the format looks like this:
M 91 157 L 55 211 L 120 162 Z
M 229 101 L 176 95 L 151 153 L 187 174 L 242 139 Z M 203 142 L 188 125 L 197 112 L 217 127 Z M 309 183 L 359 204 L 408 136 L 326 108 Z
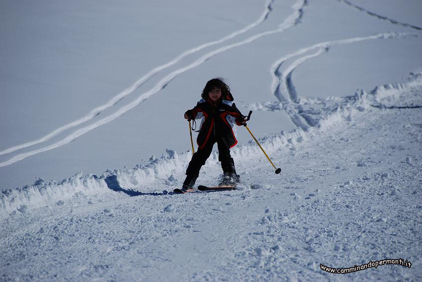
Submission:
M 211 99 L 201 99 L 192 109 L 186 111 L 191 119 L 202 119 L 197 138 L 198 146 L 203 149 L 210 140 L 222 141 L 228 148 L 237 144 L 236 127 L 241 126 L 244 116 L 236 108 L 236 105 L 227 100 L 219 100 L 213 105 Z

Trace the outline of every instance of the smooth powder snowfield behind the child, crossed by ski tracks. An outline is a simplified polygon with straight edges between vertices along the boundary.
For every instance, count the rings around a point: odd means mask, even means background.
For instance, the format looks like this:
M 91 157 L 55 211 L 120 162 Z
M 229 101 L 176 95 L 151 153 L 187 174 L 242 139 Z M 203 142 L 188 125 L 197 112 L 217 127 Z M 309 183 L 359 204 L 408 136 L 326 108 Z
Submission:
M 183 113 L 215 76 L 247 113 L 287 97 L 279 74 L 297 95 L 326 98 L 421 72 L 421 3 L 2 1 L 0 187 L 188 150 Z M 264 137 L 297 120 L 261 111 L 250 126 Z

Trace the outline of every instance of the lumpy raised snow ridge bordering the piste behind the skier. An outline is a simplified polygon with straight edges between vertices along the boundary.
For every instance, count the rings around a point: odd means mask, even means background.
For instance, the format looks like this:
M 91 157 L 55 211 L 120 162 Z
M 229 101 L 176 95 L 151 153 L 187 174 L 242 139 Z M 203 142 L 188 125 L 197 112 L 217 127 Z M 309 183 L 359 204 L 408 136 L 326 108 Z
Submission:
M 421 86 L 422 73 L 412 73 L 403 82 L 378 86 L 369 93 L 359 90 L 354 95 L 343 98 L 332 97 L 325 100 L 304 98 L 301 100 L 301 104 L 297 105 L 296 110 L 307 113 L 309 116 L 317 115 L 318 118 L 313 118 L 315 127 L 309 128 L 308 131 L 304 131 L 299 127 L 289 133 L 281 132 L 281 134 L 259 139 L 260 143 L 270 154 L 279 149 L 295 150 L 297 143 L 306 141 L 334 125 L 338 126 L 342 122 L 351 121 L 353 115 L 365 111 L 369 108 L 370 103 L 382 102 L 383 99 L 389 97 L 399 97 L 403 94 L 403 91 Z M 261 109 L 277 110 L 280 104 L 273 104 L 274 108 L 271 108 L 271 103 L 266 103 L 261 105 Z M 318 104 L 322 104 L 324 107 L 319 111 L 314 110 L 314 107 Z M 256 105 L 256 107 L 258 106 L 260 105 Z M 306 107 L 310 107 L 310 109 L 306 109 Z M 262 154 L 262 152 L 254 141 L 240 144 L 232 149 L 232 156 L 235 160 L 258 154 Z M 138 164 L 133 169 L 107 170 L 100 178 L 92 174 L 82 176 L 81 172 L 61 182 L 46 181 L 38 178 L 33 185 L 27 185 L 15 190 L 7 189 L 1 192 L 0 217 L 17 211 L 23 212 L 27 209 L 50 205 L 57 201 L 60 203 L 60 201 L 81 193 L 83 195 L 92 195 L 111 192 L 110 189 L 112 188 L 109 189 L 107 179 L 112 177 L 117 179 L 119 187 L 124 189 L 151 189 L 150 187 L 153 183 L 171 182 L 174 180 L 174 175 L 183 174 L 191 156 L 192 153 L 190 151 L 177 153 L 174 150 L 167 149 L 166 153 L 160 158 L 151 157 L 150 162 L 147 164 Z M 216 152 L 211 154 L 206 165 L 218 165 Z

